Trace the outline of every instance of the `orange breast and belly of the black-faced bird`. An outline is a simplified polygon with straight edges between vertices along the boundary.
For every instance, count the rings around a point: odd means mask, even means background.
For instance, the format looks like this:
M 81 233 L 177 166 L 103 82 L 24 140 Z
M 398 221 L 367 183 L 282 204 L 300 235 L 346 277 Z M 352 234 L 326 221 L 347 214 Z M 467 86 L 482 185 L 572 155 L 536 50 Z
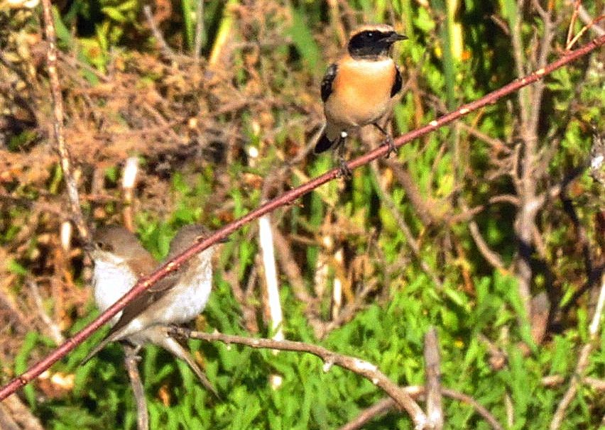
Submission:
M 378 121 L 392 107 L 391 88 L 397 70 L 393 60 L 354 60 L 337 63 L 332 94 L 325 102 L 327 121 L 343 128 Z

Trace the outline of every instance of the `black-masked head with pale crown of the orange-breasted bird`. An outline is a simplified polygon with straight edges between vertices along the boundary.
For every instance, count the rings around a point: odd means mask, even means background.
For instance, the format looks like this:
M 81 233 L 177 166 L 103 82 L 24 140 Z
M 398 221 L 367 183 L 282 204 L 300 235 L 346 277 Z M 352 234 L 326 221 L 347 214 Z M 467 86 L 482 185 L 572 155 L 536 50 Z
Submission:
M 391 26 L 365 26 L 351 35 L 347 48 L 351 57 L 378 59 L 388 55 L 393 43 L 407 38 Z

